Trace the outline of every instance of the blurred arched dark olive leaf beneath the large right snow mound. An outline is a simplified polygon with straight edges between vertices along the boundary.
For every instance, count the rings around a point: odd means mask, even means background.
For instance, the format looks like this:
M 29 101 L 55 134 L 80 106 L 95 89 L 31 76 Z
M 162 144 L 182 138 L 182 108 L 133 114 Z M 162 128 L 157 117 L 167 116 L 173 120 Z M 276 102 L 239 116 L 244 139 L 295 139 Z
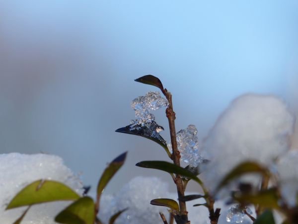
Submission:
M 246 161 L 237 165 L 224 177 L 224 179 L 218 185 L 216 192 L 227 185 L 231 180 L 247 173 L 259 173 L 263 176 L 269 175 L 269 171 L 266 168 L 260 166 L 258 163 Z

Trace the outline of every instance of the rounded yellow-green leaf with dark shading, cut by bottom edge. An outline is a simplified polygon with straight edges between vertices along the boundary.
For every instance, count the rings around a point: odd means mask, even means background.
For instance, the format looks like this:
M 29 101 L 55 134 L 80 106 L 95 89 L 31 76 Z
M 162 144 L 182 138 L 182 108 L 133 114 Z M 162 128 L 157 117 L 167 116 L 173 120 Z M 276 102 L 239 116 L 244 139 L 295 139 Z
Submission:
M 82 197 L 59 213 L 55 222 L 62 224 L 94 224 L 95 205 L 90 197 Z

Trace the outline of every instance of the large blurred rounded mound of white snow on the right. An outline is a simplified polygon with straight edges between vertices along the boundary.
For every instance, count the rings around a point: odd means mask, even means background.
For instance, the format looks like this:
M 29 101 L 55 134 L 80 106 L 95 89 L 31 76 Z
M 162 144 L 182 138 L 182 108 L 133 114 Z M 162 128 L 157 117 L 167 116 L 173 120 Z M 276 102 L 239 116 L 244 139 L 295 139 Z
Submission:
M 246 94 L 219 117 L 204 142 L 211 162 L 204 173 L 213 190 L 229 170 L 245 160 L 269 165 L 289 150 L 295 118 L 274 96 Z

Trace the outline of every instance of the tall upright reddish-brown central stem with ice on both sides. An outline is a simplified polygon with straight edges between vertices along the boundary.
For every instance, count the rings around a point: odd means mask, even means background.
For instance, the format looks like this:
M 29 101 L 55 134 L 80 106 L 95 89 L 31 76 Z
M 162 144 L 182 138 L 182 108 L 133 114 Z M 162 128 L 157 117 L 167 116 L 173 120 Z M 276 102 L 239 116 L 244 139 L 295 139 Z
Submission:
M 169 103 L 168 108 L 166 109 L 166 117 L 168 118 L 169 128 L 170 128 L 170 136 L 171 136 L 171 143 L 172 143 L 172 156 L 171 159 L 173 160 L 174 164 L 180 166 L 180 152 L 177 147 L 177 139 L 176 139 L 176 129 L 175 129 L 175 112 L 173 111 L 173 104 L 172 104 L 172 95 L 166 89 L 164 89 L 164 95 Z M 177 193 L 178 198 L 183 198 L 185 189 L 183 188 L 183 182 L 180 175 L 176 175 L 175 184 L 177 186 Z M 186 203 L 179 200 L 179 208 L 180 213 L 183 216 L 183 220 L 188 221 L 187 217 L 187 210 L 186 210 Z

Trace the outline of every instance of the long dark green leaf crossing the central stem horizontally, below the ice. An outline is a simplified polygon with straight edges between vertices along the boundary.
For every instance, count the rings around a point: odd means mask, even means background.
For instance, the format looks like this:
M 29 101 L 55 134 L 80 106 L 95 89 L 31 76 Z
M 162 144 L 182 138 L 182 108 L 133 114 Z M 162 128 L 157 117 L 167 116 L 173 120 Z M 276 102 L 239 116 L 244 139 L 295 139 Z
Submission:
M 187 178 L 190 178 L 200 185 L 202 184 L 202 181 L 193 173 L 191 173 L 188 170 L 185 170 L 184 168 L 177 166 L 175 164 L 165 162 L 165 161 L 142 161 L 136 164 L 136 166 L 143 167 L 143 168 L 150 168 L 150 169 L 157 169 L 162 170 L 168 173 L 175 173 L 181 176 L 185 176 Z

